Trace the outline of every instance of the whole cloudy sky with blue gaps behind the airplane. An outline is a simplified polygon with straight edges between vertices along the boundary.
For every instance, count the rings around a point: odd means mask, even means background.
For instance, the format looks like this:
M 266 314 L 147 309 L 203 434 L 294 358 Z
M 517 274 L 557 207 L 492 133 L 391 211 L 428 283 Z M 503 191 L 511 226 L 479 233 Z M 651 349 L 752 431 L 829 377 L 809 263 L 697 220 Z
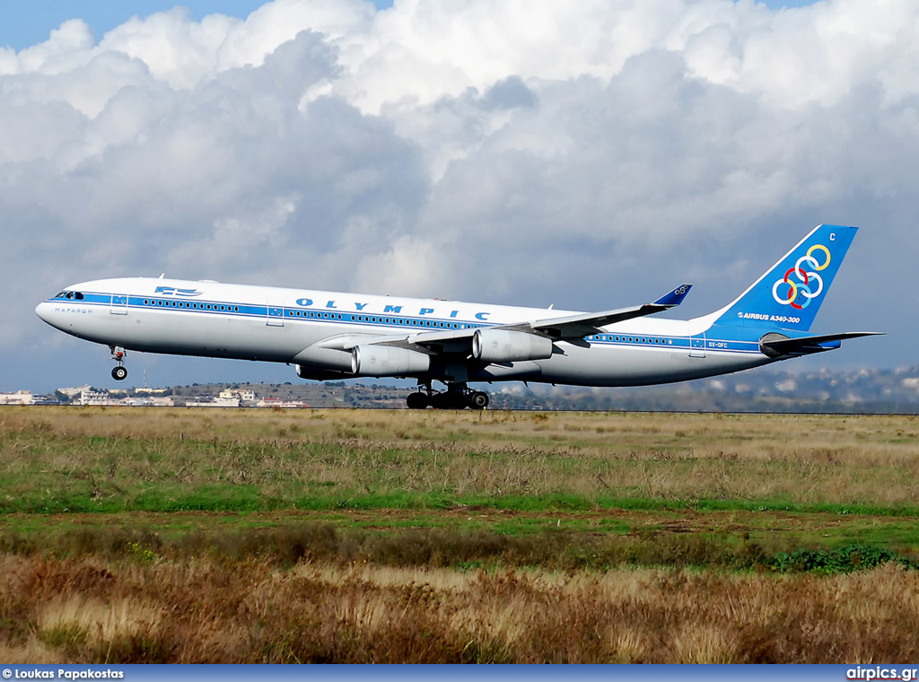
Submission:
M 116 385 L 33 313 L 87 279 L 691 317 L 821 222 L 863 229 L 813 331 L 889 334 L 781 367 L 913 367 L 917 39 L 914 0 L 4 0 L 0 391 Z

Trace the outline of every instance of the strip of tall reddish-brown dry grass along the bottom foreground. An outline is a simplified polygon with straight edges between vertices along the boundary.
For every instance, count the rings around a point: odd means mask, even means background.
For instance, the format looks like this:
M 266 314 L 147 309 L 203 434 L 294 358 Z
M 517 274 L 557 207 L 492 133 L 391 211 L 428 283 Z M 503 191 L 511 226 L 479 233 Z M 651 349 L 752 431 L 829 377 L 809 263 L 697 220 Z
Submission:
M 0 560 L 29 663 L 915 662 L 919 574 Z

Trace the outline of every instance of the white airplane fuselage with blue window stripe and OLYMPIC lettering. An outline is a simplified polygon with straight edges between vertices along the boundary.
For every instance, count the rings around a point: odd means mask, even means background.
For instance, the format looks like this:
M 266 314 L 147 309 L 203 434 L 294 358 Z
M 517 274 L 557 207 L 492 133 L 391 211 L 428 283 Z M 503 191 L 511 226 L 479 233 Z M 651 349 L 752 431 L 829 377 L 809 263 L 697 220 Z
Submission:
M 59 295 L 40 303 L 36 312 L 52 326 L 88 341 L 150 353 L 293 364 L 301 362 L 297 357 L 304 349 L 339 335 L 410 339 L 576 314 L 165 278 L 99 279 L 68 291 L 82 298 Z M 754 342 L 712 337 L 711 329 L 717 329 L 711 327 L 712 319 L 639 318 L 611 324 L 583 340 L 555 342 L 548 359 L 473 364 L 464 381 L 635 386 L 773 361 Z M 428 376 L 441 379 L 436 373 Z

